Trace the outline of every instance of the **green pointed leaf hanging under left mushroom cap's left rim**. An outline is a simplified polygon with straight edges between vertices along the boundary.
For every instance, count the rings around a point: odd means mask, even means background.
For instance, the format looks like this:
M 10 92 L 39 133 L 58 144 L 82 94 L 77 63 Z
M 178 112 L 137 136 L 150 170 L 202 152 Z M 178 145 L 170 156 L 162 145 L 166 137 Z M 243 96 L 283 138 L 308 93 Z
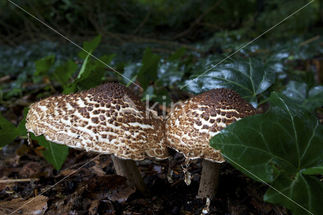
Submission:
M 43 135 L 36 137 L 34 134 L 30 134 L 31 139 L 37 140 L 38 144 L 45 148 L 42 151 L 47 162 L 52 164 L 56 170 L 60 170 L 65 162 L 65 159 L 69 153 L 69 148 L 66 145 L 56 144 L 49 142 Z

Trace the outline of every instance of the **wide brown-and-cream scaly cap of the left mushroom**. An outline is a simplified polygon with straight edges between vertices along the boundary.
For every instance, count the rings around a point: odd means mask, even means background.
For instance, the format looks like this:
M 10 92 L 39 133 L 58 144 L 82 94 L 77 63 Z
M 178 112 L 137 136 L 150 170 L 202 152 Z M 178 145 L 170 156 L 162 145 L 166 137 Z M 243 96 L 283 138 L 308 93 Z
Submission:
M 118 83 L 45 98 L 31 105 L 26 121 L 36 136 L 73 148 L 134 160 L 169 157 L 163 121 Z

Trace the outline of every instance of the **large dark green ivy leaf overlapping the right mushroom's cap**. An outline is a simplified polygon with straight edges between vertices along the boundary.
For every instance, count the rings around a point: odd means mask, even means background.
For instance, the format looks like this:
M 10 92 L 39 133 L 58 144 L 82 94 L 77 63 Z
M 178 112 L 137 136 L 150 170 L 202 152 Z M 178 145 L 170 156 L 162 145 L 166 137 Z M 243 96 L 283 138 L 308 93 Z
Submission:
M 302 171 L 323 163 L 323 126 L 283 94 L 273 92 L 270 101 L 267 113 L 227 126 L 210 140 L 210 145 L 220 149 L 228 162 L 244 174 L 270 183 L 288 198 L 319 214 L 322 183 Z M 294 214 L 306 214 L 288 198 L 272 188 L 264 196 L 264 200 L 285 206 Z

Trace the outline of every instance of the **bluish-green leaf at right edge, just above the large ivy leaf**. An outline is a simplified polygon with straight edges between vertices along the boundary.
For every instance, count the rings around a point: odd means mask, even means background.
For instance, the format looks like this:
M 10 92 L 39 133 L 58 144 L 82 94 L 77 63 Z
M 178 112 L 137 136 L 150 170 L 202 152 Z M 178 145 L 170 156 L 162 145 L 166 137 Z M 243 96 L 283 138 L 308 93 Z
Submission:
M 309 112 L 313 112 L 316 108 L 323 106 L 323 86 L 308 88 L 305 82 L 290 81 L 283 93 Z

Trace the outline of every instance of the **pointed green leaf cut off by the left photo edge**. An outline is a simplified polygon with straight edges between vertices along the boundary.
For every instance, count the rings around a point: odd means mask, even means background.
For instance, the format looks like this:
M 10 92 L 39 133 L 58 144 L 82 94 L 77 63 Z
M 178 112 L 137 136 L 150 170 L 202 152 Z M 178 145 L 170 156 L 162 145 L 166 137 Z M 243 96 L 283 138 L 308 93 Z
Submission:
M 0 147 L 11 143 L 17 136 L 19 130 L 0 114 Z

